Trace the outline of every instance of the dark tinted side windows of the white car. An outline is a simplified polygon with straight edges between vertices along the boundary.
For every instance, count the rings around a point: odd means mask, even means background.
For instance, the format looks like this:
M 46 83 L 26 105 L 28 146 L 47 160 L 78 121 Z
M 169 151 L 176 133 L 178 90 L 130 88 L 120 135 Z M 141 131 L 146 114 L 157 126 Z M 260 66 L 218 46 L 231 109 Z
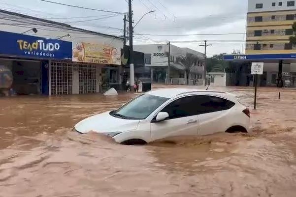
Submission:
M 234 105 L 235 103 L 227 99 L 215 96 L 187 96 L 171 102 L 165 106 L 161 112 L 168 113 L 168 119 L 174 119 L 203 113 L 224 111 L 232 108 Z

